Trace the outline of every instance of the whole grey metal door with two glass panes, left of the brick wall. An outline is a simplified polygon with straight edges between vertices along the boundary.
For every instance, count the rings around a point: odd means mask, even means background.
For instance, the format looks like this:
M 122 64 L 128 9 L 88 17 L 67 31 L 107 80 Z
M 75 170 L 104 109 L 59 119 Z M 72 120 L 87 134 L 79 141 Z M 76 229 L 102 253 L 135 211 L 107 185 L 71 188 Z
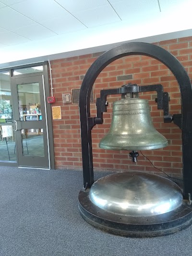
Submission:
M 20 167 L 50 168 L 44 91 L 42 75 L 12 79 Z

